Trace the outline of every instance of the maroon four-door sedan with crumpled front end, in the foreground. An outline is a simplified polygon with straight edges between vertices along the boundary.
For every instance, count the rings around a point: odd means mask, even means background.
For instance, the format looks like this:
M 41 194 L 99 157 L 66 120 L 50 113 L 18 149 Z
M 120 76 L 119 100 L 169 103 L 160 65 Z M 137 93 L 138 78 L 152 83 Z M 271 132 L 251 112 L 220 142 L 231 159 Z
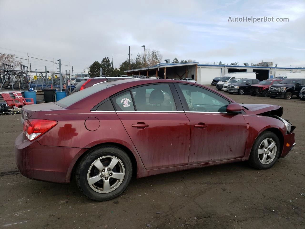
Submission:
M 241 161 L 268 169 L 295 145 L 295 127 L 281 115 L 282 107 L 239 105 L 196 83 L 103 82 L 56 103 L 24 106 L 16 162 L 28 178 L 74 178 L 88 198 L 109 200 L 132 174 Z

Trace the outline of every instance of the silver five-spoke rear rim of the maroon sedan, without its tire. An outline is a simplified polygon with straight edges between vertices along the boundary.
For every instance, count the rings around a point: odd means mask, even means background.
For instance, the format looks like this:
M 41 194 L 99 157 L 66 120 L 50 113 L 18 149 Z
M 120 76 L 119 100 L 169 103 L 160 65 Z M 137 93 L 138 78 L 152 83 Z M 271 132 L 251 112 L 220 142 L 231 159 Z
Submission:
M 115 156 L 96 159 L 88 169 L 89 186 L 96 192 L 109 193 L 117 189 L 125 175 L 123 162 Z

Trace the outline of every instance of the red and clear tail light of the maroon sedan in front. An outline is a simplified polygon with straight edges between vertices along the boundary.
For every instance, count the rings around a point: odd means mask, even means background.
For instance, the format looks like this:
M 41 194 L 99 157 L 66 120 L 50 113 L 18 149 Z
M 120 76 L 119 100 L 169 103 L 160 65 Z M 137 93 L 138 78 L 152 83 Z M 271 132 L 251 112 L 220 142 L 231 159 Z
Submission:
M 57 125 L 55 120 L 27 119 L 23 122 L 23 133 L 29 141 L 33 141 L 55 125 Z

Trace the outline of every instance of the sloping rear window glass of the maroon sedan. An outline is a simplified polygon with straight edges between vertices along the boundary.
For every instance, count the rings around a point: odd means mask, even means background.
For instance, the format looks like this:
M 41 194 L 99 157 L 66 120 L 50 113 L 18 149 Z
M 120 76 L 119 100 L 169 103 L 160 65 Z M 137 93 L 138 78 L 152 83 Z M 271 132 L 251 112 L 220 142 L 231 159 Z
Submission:
M 59 100 L 55 104 L 59 105 L 63 108 L 66 108 L 66 107 L 69 107 L 70 105 L 86 98 L 87 96 L 90 96 L 96 92 L 106 89 L 107 87 L 111 87 L 112 85 L 113 84 L 101 83 L 94 87 L 86 88 L 84 90 L 78 91 L 77 93 L 73 93 L 67 97 L 64 97 L 63 99 Z

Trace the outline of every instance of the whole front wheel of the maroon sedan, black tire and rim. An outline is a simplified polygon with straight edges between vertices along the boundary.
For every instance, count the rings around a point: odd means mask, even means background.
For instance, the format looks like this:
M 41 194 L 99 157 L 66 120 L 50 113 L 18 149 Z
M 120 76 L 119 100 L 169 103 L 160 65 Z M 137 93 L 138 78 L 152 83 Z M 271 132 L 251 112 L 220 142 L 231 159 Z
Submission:
M 272 148 L 265 151 L 266 140 L 267 146 L 271 146 Z M 274 144 L 274 146 L 272 144 Z M 278 139 L 278 136 L 271 131 L 264 131 L 253 143 L 248 164 L 256 169 L 269 169 L 278 160 L 279 155 L 280 140 Z

